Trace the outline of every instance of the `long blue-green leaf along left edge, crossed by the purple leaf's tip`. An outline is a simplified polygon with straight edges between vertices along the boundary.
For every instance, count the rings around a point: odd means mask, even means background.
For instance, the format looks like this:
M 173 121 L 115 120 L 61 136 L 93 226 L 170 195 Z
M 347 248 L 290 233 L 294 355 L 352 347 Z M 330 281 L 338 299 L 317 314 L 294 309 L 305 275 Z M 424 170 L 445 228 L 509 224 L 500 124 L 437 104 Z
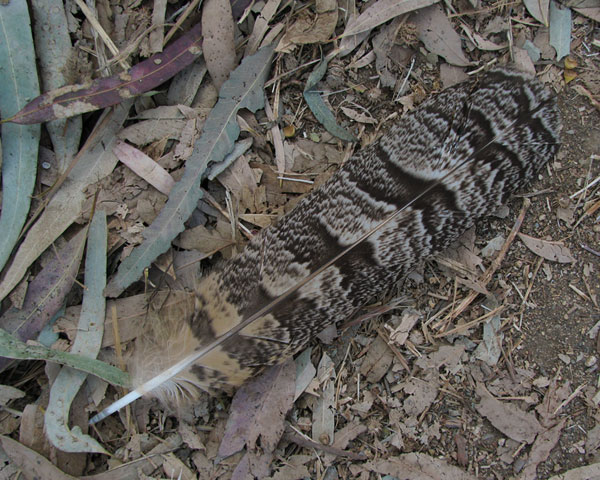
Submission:
M 0 114 L 14 115 L 39 95 L 27 2 L 0 4 Z M 40 127 L 2 127 L 0 270 L 25 224 L 35 185 Z

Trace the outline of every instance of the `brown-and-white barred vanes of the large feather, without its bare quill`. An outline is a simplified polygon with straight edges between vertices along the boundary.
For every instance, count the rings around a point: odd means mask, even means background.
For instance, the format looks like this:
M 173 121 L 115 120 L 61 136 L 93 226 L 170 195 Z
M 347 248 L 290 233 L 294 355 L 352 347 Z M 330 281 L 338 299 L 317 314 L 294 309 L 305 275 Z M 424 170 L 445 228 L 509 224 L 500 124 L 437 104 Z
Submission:
M 493 70 L 427 100 L 238 257 L 202 278 L 194 312 L 139 350 L 161 360 L 148 368 L 138 358 L 144 368 L 135 369 L 136 384 L 214 341 L 354 245 L 151 393 L 170 403 L 194 398 L 201 390 L 239 386 L 283 362 L 496 210 L 556 153 L 559 131 L 554 96 L 510 70 Z

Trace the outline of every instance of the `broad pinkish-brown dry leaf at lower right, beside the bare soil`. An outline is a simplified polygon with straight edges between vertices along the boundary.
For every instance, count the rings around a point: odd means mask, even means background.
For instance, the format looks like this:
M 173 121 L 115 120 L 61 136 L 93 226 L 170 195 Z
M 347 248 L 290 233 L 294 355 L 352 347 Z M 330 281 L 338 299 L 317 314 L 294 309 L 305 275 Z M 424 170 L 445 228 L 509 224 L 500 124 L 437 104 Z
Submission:
M 536 435 L 544 429 L 532 413 L 527 413 L 516 405 L 501 402 L 494 398 L 483 383 L 477 382 L 477 395 L 481 397 L 475 408 L 480 415 L 507 437 L 517 442 L 532 443 Z

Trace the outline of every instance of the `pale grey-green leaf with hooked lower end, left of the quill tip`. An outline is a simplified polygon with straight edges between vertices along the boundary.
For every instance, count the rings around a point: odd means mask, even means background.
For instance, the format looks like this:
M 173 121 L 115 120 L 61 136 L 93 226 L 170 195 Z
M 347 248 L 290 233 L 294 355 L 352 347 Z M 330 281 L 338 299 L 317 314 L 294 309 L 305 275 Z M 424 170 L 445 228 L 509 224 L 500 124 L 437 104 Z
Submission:
M 102 290 L 106 286 L 106 214 L 97 210 L 88 234 L 85 259 L 85 286 L 83 306 L 77 326 L 77 337 L 71 353 L 96 358 L 102 345 L 106 300 Z M 87 374 L 63 367 L 52 384 L 50 400 L 44 415 L 46 435 L 63 452 L 107 453 L 92 437 L 78 428 L 69 428 L 69 410 L 75 395 Z

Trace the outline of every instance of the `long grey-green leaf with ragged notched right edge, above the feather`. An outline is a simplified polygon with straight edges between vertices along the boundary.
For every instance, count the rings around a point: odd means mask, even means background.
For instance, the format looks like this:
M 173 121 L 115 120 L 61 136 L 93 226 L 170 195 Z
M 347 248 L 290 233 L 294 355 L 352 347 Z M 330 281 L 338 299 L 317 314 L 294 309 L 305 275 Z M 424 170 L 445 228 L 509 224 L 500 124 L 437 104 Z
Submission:
M 223 84 L 219 101 L 206 119 L 202 136 L 186 162 L 185 174 L 171 190 L 167 204 L 154 223 L 144 231 L 144 242 L 123 261 L 117 275 L 106 287 L 106 296 L 116 297 L 137 281 L 144 268 L 165 252 L 171 241 L 183 231 L 184 222 L 202 196 L 200 181 L 209 162 L 221 162 L 233 149 L 240 133 L 236 121 L 238 110 L 248 108 L 255 112 L 263 107 L 263 85 L 272 54 L 272 47 L 259 50 L 246 58 Z

